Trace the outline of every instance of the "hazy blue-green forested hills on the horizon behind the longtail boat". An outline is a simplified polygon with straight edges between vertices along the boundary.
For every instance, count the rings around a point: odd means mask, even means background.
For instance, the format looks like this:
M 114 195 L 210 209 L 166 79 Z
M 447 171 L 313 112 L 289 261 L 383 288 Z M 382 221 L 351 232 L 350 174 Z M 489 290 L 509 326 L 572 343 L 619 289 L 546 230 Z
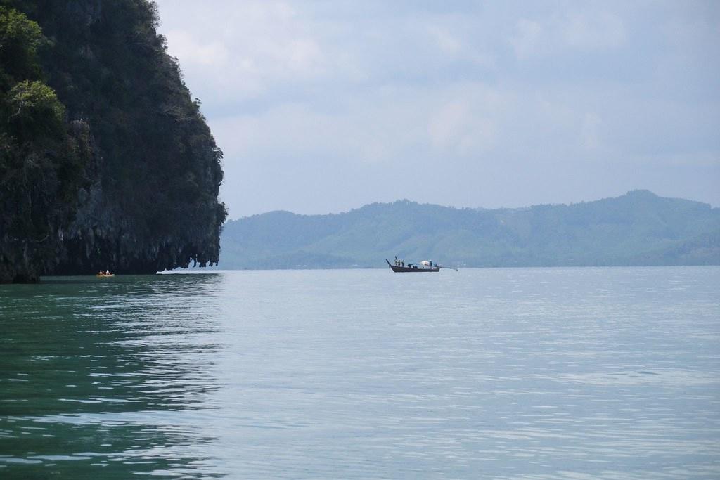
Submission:
M 396 201 L 342 214 L 230 221 L 222 268 L 720 264 L 720 209 L 649 191 L 570 205 L 454 209 Z

